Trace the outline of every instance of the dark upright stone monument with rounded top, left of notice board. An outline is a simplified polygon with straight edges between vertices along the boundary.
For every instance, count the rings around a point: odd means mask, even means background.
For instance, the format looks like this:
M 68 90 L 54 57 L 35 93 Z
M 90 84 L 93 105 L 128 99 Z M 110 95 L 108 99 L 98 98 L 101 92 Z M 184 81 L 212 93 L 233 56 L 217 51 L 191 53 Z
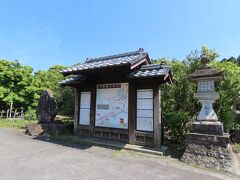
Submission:
M 58 112 L 57 102 L 50 90 L 46 90 L 42 93 L 38 100 L 38 122 L 50 123 L 54 121 Z

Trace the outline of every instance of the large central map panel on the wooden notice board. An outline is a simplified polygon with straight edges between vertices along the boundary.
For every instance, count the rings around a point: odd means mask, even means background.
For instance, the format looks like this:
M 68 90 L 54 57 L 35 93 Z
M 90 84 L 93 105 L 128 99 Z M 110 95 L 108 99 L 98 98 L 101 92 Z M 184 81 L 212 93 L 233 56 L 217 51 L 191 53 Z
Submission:
M 95 125 L 128 129 L 128 83 L 97 85 Z

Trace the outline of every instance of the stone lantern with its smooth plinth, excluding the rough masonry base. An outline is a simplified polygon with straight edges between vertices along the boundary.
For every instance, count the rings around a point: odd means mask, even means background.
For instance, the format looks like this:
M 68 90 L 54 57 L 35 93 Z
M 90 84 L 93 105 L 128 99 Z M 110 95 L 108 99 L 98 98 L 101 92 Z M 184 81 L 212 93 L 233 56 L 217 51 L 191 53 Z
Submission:
M 201 103 L 201 111 L 192 125 L 192 132 L 223 135 L 223 125 L 218 121 L 213 103 L 219 99 L 214 83 L 223 78 L 224 72 L 209 67 L 209 59 L 206 57 L 201 58 L 201 63 L 201 69 L 187 76 L 189 80 L 197 82 L 194 98 Z

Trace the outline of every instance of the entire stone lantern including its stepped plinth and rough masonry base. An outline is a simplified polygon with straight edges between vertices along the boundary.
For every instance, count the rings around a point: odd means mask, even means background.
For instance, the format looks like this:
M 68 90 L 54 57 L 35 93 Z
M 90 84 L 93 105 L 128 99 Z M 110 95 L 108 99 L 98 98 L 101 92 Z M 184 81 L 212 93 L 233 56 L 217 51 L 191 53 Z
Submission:
M 201 57 L 202 67 L 188 75 L 198 85 L 194 97 L 201 103 L 201 111 L 187 135 L 186 150 L 181 161 L 202 167 L 236 172 L 238 162 L 230 145 L 229 134 L 224 133 L 223 124 L 213 109 L 219 98 L 214 82 L 224 76 L 223 71 L 209 67 L 209 59 Z

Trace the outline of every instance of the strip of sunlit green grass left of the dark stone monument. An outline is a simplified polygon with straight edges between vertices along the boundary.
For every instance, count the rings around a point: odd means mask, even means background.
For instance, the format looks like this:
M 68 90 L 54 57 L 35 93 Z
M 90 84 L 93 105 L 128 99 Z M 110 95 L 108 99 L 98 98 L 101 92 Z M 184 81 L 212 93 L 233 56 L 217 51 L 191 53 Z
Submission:
M 37 121 L 29 121 L 24 119 L 13 120 L 13 119 L 0 119 L 0 127 L 6 128 L 19 128 L 23 129 L 26 124 L 37 123 Z

